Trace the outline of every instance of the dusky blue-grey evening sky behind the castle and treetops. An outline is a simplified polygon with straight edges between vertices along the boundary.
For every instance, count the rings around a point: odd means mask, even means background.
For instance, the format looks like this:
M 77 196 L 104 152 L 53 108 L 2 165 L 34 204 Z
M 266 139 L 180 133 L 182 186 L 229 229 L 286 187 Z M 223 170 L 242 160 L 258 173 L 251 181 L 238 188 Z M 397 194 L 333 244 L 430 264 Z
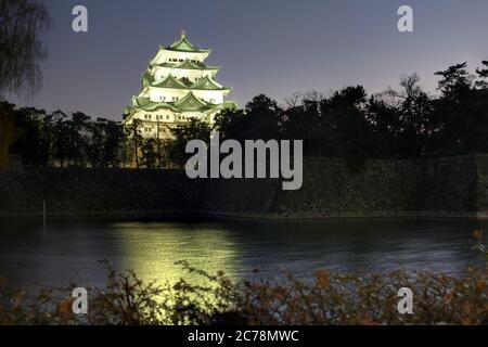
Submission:
M 434 72 L 488 60 L 487 0 L 44 0 L 55 25 L 46 36 L 44 85 L 18 105 L 82 111 L 119 119 L 159 44 L 185 28 L 211 48 L 217 80 L 243 106 L 267 93 L 330 92 L 361 83 L 371 92 L 418 72 L 434 92 Z M 72 30 L 72 9 L 89 11 L 89 33 Z M 397 10 L 414 10 L 413 34 L 397 30 Z

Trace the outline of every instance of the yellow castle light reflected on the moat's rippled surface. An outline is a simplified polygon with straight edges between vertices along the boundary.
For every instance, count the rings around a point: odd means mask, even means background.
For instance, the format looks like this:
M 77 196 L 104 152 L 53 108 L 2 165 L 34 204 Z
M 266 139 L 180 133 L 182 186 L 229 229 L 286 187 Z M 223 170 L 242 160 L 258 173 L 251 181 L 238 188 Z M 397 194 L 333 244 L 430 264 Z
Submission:
M 117 246 L 125 254 L 123 268 L 133 270 L 141 280 L 166 284 L 184 278 L 204 284 L 203 278 L 175 265 L 179 260 L 187 260 L 210 274 L 223 270 L 233 281 L 239 280 L 239 269 L 242 269 L 239 245 L 223 228 L 167 222 L 112 227 L 117 229 Z

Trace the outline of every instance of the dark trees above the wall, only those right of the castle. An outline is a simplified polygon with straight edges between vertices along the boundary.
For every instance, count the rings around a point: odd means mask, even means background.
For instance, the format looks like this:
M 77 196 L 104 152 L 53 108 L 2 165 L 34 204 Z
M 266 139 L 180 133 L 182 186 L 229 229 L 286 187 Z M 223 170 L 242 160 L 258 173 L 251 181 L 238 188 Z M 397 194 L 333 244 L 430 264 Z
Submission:
M 219 115 L 226 138 L 301 139 L 307 155 L 332 157 L 418 157 L 488 151 L 488 62 L 467 72 L 457 64 L 436 73 L 439 97 L 419 86 L 416 74 L 400 90 L 368 98 L 363 87 L 347 87 L 324 98 L 295 95 L 281 108 L 265 95 L 244 111 Z M 301 99 L 301 100 L 300 100 Z

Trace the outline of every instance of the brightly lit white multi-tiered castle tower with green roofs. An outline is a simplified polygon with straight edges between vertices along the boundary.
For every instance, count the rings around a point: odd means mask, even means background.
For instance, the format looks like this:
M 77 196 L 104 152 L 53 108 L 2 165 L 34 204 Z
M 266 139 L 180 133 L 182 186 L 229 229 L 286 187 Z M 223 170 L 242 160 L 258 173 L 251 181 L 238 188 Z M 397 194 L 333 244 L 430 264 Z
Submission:
M 236 107 L 223 100 L 231 88 L 214 79 L 220 67 L 204 64 L 209 54 L 190 43 L 184 30 L 178 41 L 160 47 L 142 76 L 141 92 L 124 110 L 124 123 L 140 119 L 143 137 L 165 138 L 190 117 L 213 124 L 218 112 Z

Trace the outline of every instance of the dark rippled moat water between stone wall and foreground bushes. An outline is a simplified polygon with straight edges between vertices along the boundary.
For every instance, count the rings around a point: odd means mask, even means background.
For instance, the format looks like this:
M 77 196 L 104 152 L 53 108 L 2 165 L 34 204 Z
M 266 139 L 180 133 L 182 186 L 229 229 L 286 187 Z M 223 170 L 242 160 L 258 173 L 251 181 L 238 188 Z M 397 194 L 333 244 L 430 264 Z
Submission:
M 24 286 L 103 285 L 101 258 L 157 281 L 182 277 L 174 262 L 183 259 L 236 280 L 279 278 L 285 269 L 311 277 L 320 268 L 458 274 L 486 261 L 472 249 L 473 231 L 484 227 L 459 220 L 147 221 L 63 222 L 43 230 L 38 221 L 2 221 L 0 275 Z

